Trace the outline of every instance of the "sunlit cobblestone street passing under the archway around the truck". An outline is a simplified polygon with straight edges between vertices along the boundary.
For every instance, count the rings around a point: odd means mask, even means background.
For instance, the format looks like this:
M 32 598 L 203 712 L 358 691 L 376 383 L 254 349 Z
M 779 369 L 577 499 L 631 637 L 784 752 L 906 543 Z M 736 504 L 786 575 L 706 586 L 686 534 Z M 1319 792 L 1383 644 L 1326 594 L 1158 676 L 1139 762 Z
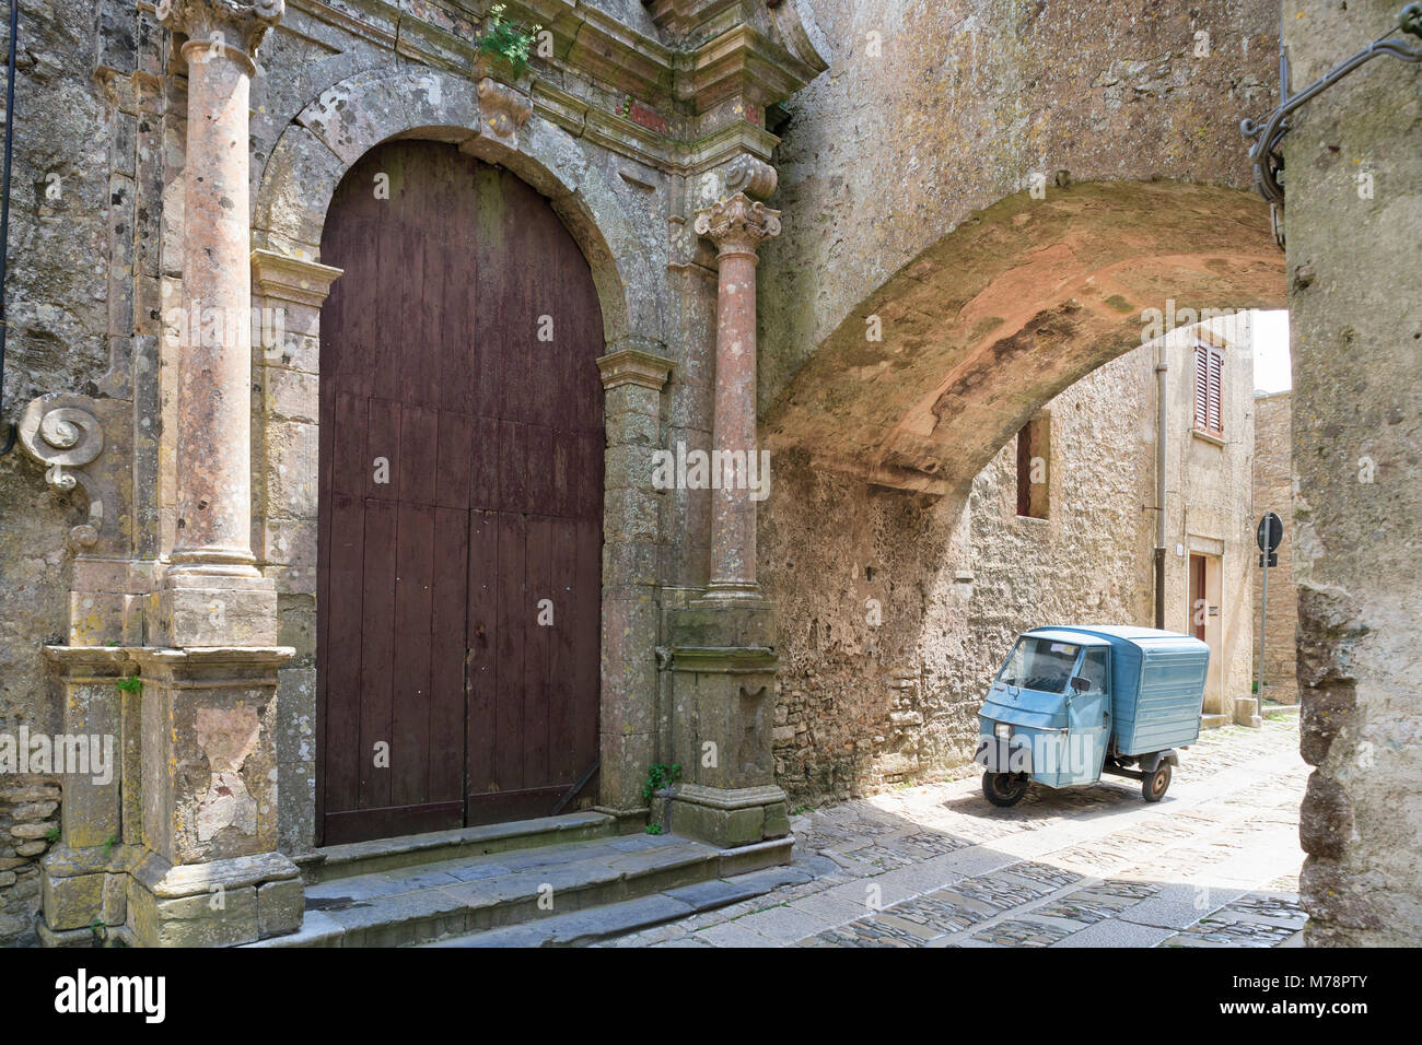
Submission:
M 1297 715 L 1204 734 L 1165 800 L 1123 778 L 990 806 L 973 775 L 793 818 L 816 874 L 610 947 L 1297 947 Z

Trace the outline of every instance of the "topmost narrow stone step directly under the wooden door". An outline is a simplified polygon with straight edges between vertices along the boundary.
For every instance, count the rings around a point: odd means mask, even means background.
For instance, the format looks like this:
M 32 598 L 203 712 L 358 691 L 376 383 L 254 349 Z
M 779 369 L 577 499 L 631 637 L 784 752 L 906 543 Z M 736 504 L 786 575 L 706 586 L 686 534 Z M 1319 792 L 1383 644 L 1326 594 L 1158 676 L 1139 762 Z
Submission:
M 619 820 L 609 813 L 565 813 L 536 820 L 491 823 L 427 835 L 402 835 L 373 842 L 350 842 L 317 849 L 301 859 L 301 873 L 309 884 L 358 874 L 394 872 L 441 860 L 458 860 L 505 853 L 516 849 L 566 845 L 619 833 Z

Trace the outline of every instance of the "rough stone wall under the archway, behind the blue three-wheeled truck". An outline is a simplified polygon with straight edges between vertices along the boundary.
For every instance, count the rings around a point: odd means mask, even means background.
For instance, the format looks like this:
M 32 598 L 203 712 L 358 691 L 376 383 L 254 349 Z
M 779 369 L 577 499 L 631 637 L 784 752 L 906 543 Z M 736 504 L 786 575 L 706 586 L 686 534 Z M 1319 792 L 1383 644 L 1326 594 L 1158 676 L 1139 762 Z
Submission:
M 1196 446 L 1183 408 L 1193 333 L 1167 344 L 1166 627 L 1189 630 L 1187 559 L 1176 546 L 1187 547 L 1190 535 L 1219 542 L 1227 634 L 1212 670 L 1229 721 L 1250 685 L 1243 545 L 1253 371 L 1247 351 L 1231 353 L 1241 371 L 1224 384 L 1224 409 L 1239 445 Z M 964 506 L 869 486 L 796 455 L 774 459 L 761 557 L 781 653 L 776 773 L 796 803 L 961 768 L 987 680 L 1020 631 L 1152 626 L 1155 365 L 1155 344 L 1136 348 L 1038 415 L 1051 441 L 1045 520 L 1017 515 L 1015 439 L 977 476 Z

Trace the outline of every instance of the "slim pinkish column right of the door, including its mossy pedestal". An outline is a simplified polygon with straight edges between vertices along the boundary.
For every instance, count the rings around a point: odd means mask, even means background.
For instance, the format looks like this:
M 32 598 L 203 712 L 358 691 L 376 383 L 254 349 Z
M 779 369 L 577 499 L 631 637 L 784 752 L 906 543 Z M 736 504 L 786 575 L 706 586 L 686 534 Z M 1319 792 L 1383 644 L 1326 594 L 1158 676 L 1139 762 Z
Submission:
M 752 164 L 752 171 L 769 168 Z M 774 188 L 769 175 L 752 181 L 765 192 Z M 779 212 L 735 192 L 698 212 L 695 230 L 718 249 L 711 438 L 712 452 L 722 456 L 720 468 L 712 462 L 720 485 L 711 491 L 707 594 L 667 614 L 673 754 L 683 771 L 667 810 L 673 832 L 727 850 L 727 873 L 786 862 L 793 845 L 771 758 L 775 627 L 755 579 L 755 500 L 748 483 L 752 473 L 768 479 L 758 475 L 755 439 L 755 249 L 779 235 Z M 738 461 L 747 469 L 739 475 Z

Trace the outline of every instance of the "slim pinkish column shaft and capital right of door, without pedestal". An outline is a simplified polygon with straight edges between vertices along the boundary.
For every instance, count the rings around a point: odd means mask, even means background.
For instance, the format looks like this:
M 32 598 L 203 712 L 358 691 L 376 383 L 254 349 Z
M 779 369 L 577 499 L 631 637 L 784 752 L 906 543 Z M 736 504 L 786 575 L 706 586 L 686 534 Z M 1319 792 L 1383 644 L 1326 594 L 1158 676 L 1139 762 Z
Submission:
M 711 491 L 711 583 L 707 600 L 755 603 L 755 502 L 748 476 L 755 444 L 755 249 L 781 233 L 779 210 L 744 192 L 697 212 L 697 233 L 717 245 L 715 414 L 711 449 L 721 468 Z M 737 473 L 744 461 L 745 471 Z

